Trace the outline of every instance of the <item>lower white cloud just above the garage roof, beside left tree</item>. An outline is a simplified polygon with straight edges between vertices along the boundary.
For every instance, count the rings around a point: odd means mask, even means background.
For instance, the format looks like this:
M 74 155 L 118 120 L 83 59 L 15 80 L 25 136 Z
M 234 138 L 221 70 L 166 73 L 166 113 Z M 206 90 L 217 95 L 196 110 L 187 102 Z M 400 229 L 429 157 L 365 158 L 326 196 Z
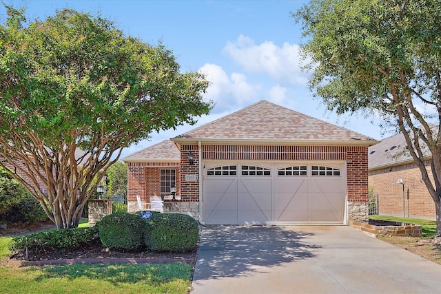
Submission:
M 249 83 L 244 74 L 228 76 L 222 67 L 209 63 L 205 63 L 199 72 L 210 82 L 204 98 L 216 103 L 212 113 L 234 111 L 264 98 L 262 86 Z

